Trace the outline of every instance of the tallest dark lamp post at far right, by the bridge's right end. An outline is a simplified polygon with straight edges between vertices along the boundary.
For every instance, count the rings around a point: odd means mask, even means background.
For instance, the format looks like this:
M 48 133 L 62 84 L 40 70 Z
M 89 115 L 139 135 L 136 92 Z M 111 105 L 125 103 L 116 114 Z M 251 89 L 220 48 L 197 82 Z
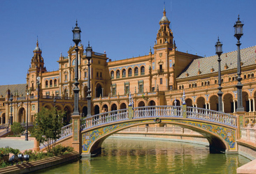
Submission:
M 238 17 L 237 21 L 236 21 L 236 24 L 234 24 L 234 37 L 236 37 L 237 39 L 237 85 L 236 85 L 236 88 L 237 88 L 237 109 L 236 111 L 244 111 L 244 108 L 243 108 L 243 96 L 242 96 L 242 88 L 243 88 L 243 84 L 241 84 L 241 56 L 240 56 L 240 45 L 241 45 L 241 42 L 240 42 L 240 38 L 242 37 L 243 35 L 243 24 L 242 22 L 240 21 L 240 17 Z

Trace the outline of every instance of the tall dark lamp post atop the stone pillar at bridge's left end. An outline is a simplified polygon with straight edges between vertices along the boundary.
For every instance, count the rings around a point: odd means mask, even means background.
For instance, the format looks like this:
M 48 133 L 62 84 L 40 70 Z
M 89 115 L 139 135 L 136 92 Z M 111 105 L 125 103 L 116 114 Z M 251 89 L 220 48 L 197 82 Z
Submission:
M 80 40 L 80 33 L 81 30 L 78 27 L 78 21 L 76 21 L 76 26 L 72 30 L 73 32 L 73 42 L 76 44 L 76 66 L 75 66 L 75 82 L 73 83 L 75 87 L 73 88 L 73 93 L 74 93 L 74 110 L 73 110 L 73 116 L 78 116 L 79 111 L 78 111 L 78 99 L 79 99 L 79 88 L 78 88 L 78 43 L 81 41 Z

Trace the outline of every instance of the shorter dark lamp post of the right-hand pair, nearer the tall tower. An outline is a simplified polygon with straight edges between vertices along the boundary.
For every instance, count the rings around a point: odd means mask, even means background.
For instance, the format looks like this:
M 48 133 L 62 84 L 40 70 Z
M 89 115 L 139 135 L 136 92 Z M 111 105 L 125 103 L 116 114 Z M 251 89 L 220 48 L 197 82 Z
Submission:
M 222 109 L 222 87 L 221 87 L 221 69 L 220 69 L 220 55 L 222 54 L 222 44 L 220 43 L 220 40 L 218 38 L 218 42 L 216 42 L 216 45 L 215 45 L 215 48 L 216 48 L 216 54 L 218 55 L 218 64 L 219 64 L 219 70 L 218 70 L 218 83 L 219 83 L 219 86 L 218 86 L 218 106 L 219 106 L 219 112 L 223 112 L 223 109 Z

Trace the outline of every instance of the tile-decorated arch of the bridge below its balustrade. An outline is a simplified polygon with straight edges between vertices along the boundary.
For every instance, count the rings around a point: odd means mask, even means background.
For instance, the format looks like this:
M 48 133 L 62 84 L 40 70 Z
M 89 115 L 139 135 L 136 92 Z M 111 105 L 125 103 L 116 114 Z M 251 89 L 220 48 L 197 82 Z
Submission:
M 101 145 L 108 136 L 120 132 L 122 129 L 138 125 L 155 124 L 156 118 L 145 118 L 140 120 L 126 120 L 122 122 L 113 122 L 102 127 L 93 127 L 81 132 L 81 152 L 82 156 L 90 156 L 101 150 Z M 183 118 L 159 118 L 161 123 L 179 125 L 192 129 L 208 140 L 211 153 L 236 151 L 236 129 L 234 127 L 222 127 L 212 122 L 201 122 L 200 120 Z

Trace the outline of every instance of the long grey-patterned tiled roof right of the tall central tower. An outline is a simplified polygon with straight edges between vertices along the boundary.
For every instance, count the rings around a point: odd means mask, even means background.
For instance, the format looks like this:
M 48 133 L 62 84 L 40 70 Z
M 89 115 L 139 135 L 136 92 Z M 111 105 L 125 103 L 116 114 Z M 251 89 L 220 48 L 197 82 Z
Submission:
M 242 67 L 255 64 L 256 58 L 256 46 L 248 47 L 240 50 L 241 54 L 241 63 Z M 227 63 L 227 69 L 237 68 L 237 50 L 234 52 L 223 53 L 221 56 L 220 68 L 221 70 L 225 70 L 225 64 Z M 183 72 L 177 77 L 177 79 L 183 79 L 187 77 L 195 77 L 198 76 L 198 71 L 200 69 L 201 74 L 210 74 L 211 68 L 214 69 L 213 72 L 218 72 L 218 56 L 209 56 L 203 58 L 197 58 L 190 63 L 190 65 L 183 70 Z M 188 74 L 188 76 L 186 75 Z

